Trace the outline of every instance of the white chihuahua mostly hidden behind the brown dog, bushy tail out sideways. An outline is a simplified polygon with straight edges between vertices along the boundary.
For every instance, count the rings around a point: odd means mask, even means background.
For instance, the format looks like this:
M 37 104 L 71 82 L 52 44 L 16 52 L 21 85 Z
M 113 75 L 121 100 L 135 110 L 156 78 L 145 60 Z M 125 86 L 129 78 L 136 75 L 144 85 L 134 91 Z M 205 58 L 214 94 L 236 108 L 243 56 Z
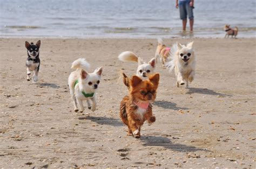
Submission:
M 154 74 L 156 68 L 156 58 L 152 58 L 148 63 L 144 62 L 142 58 L 137 57 L 136 54 L 130 51 L 122 52 L 119 54 L 118 59 L 121 61 L 138 62 L 139 66 L 136 75 L 142 80 L 149 80 L 150 76 Z

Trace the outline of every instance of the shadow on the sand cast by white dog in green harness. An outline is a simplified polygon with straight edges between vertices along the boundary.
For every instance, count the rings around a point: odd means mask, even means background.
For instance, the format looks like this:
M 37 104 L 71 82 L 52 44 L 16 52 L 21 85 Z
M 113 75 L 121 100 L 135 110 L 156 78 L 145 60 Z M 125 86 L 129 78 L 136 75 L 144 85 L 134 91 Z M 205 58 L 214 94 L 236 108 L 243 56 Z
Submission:
M 120 119 L 112 118 L 112 117 L 78 117 L 80 120 L 89 119 L 92 122 L 96 122 L 100 125 L 112 125 L 112 126 L 123 126 L 124 124 L 121 122 Z

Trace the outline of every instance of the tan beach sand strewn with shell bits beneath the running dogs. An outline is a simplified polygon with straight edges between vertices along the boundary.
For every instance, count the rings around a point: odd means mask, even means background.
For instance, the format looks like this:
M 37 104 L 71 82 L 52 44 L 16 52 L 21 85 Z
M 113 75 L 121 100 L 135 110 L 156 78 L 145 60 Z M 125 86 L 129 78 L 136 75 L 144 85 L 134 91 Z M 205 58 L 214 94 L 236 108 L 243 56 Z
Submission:
M 193 39 L 196 79 L 175 87 L 157 65 L 156 122 L 140 139 L 126 136 L 119 103 L 127 89 L 117 60 L 129 50 L 149 61 L 156 39 L 48 39 L 41 42 L 39 81 L 26 81 L 25 40 L 0 39 L 0 167 L 255 168 L 255 39 Z M 168 39 L 187 43 L 191 39 Z M 103 66 L 97 110 L 73 111 L 68 76 L 73 60 Z M 91 69 L 91 71 L 92 71 Z M 86 104 L 85 104 L 86 105 Z

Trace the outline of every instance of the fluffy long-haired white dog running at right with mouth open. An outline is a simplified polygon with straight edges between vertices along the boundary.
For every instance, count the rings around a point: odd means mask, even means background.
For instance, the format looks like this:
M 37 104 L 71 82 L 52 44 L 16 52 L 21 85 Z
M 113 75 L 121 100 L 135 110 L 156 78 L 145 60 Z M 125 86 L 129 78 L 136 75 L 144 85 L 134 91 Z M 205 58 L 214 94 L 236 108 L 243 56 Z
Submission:
M 187 45 L 174 44 L 171 48 L 171 61 L 166 63 L 166 67 L 172 72 L 175 69 L 177 78 L 176 86 L 184 85 L 188 87 L 188 81 L 194 80 L 196 71 L 196 55 L 194 55 L 193 41 Z

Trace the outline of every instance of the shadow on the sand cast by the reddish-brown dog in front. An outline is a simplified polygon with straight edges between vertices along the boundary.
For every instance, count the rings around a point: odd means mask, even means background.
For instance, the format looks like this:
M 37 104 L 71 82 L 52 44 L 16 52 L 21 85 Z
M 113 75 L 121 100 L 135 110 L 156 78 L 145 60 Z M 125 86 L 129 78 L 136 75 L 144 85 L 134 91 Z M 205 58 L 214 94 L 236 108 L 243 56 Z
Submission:
M 161 146 L 172 151 L 180 152 L 194 152 L 194 151 L 208 151 L 194 146 L 187 146 L 185 144 L 172 143 L 169 138 L 159 136 L 142 136 L 140 140 L 143 146 Z

